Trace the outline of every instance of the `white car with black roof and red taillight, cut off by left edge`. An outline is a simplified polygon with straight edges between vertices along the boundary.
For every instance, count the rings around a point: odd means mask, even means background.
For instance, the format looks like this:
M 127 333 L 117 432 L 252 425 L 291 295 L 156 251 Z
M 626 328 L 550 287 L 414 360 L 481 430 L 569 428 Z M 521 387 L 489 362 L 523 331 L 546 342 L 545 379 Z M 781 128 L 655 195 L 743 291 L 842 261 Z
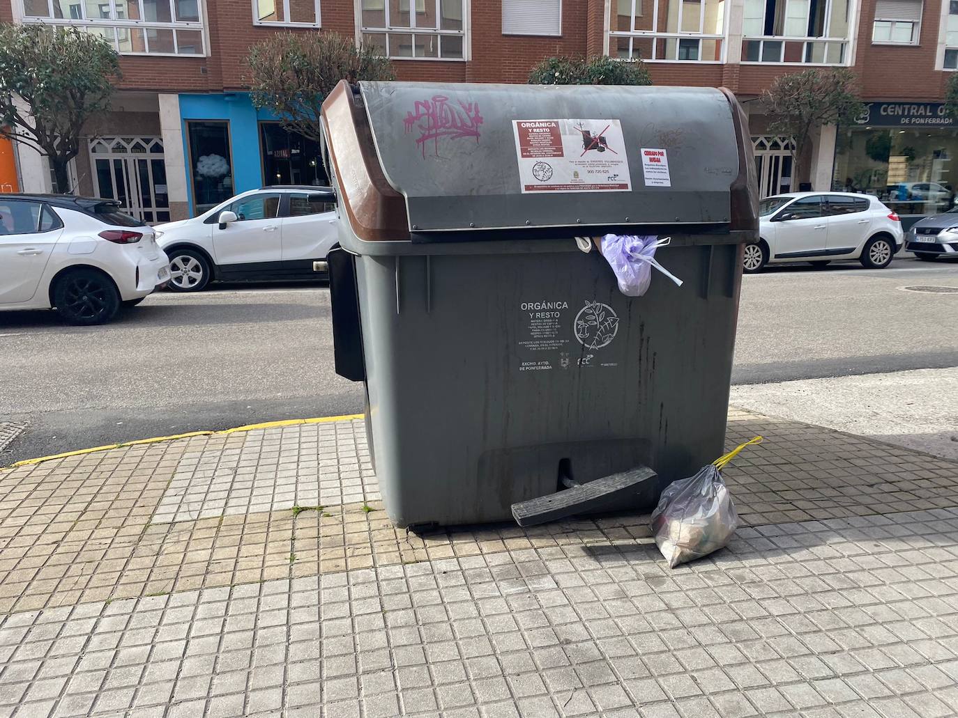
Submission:
M 99 325 L 170 280 L 151 227 L 120 203 L 0 194 L 0 310 L 50 309 Z

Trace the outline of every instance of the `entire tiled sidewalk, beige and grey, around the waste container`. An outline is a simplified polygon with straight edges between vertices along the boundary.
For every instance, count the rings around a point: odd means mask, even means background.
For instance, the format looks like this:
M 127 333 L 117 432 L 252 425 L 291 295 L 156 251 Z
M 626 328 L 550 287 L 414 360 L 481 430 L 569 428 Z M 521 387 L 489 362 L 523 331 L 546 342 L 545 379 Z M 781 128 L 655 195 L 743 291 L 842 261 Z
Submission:
M 946 716 L 958 464 L 730 412 L 727 550 L 648 517 L 417 537 L 362 422 L 0 472 L 0 716 Z

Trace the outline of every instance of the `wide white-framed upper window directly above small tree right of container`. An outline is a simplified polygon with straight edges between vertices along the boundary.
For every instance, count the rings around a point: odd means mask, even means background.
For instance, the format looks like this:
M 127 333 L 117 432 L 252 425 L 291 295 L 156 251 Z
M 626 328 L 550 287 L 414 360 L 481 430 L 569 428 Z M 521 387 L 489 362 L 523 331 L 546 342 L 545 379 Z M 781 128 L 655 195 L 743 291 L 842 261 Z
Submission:
M 742 62 L 846 65 L 851 0 L 745 0 Z

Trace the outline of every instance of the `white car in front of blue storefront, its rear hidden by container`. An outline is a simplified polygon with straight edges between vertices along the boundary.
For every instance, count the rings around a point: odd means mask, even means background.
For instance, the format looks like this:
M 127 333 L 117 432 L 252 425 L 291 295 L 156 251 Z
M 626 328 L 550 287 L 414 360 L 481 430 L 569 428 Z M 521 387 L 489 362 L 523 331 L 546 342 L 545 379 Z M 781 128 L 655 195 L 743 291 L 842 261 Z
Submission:
M 264 187 L 156 230 L 174 291 L 197 292 L 212 280 L 316 279 L 337 241 L 336 195 L 328 187 Z

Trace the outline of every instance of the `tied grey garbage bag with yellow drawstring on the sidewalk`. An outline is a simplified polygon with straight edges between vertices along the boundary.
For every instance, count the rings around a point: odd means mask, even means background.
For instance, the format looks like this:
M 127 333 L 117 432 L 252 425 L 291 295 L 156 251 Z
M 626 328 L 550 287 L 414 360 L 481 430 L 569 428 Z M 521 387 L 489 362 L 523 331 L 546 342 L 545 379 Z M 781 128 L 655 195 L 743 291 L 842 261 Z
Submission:
M 670 569 L 728 544 L 739 526 L 739 514 L 720 469 L 743 448 L 760 441 L 762 437 L 746 441 L 703 466 L 695 476 L 673 482 L 662 492 L 652 512 L 651 529 Z

